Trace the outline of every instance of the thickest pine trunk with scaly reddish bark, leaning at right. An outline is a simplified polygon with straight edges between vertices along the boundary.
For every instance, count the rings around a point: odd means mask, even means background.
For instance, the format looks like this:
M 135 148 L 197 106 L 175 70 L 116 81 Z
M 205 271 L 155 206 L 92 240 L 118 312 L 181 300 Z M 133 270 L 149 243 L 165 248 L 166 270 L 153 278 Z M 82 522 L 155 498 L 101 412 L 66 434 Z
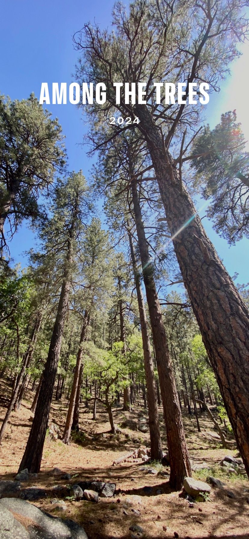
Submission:
M 137 105 L 184 285 L 249 475 L 249 313 L 179 181 L 160 130 Z

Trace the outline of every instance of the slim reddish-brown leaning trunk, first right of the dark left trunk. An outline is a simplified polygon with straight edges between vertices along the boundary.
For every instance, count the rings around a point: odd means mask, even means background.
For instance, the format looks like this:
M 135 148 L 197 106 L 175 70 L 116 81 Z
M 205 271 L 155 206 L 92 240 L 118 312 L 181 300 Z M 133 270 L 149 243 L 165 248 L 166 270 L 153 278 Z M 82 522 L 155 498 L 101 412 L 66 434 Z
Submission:
M 79 384 L 79 377 L 80 377 L 80 367 L 81 367 L 81 359 L 82 359 L 82 353 L 83 353 L 83 344 L 86 337 L 86 331 L 87 326 L 90 322 L 90 314 L 89 312 L 85 311 L 84 315 L 84 322 L 82 323 L 81 332 L 80 332 L 80 342 L 79 342 L 79 349 L 77 354 L 77 361 L 76 366 L 74 370 L 74 377 L 73 377 L 73 385 L 71 390 L 71 396 L 70 401 L 68 405 L 68 411 L 67 411 L 67 418 L 66 418 L 66 425 L 63 433 L 63 442 L 64 444 L 68 444 L 70 440 L 71 435 L 71 429 L 73 424 L 73 412 L 74 412 L 74 406 L 75 406 L 75 400 L 77 395 L 77 389 Z

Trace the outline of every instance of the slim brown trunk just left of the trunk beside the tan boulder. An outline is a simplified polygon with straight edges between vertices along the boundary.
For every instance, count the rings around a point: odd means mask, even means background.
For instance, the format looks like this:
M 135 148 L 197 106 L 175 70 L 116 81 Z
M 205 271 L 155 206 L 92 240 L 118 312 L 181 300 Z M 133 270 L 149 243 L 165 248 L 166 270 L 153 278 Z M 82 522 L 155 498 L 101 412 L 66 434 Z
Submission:
M 149 328 L 147 323 L 146 309 L 144 307 L 142 288 L 140 284 L 140 273 L 137 267 L 135 252 L 132 241 L 132 233 L 129 230 L 128 236 L 130 244 L 130 254 L 135 279 L 137 302 L 139 304 L 139 317 L 141 325 L 141 335 L 143 343 L 144 371 L 146 375 L 148 413 L 149 413 L 149 431 L 150 431 L 150 452 L 152 460 L 162 460 L 163 450 L 160 435 L 160 425 L 157 408 L 157 392 L 154 377 L 153 359 L 151 356 Z

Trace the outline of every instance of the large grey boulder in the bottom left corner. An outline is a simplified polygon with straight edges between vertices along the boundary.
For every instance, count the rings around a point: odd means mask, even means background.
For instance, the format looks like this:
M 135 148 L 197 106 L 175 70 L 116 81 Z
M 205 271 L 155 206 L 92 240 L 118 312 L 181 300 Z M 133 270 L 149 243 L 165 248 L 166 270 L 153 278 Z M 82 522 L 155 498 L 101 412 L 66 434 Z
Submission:
M 4 539 L 9 539 L 9 537 L 10 539 L 38 539 L 38 537 L 39 539 L 87 539 L 85 530 L 76 522 L 44 513 L 25 500 L 3 498 L 0 504 L 9 511 L 33 521 L 32 526 L 27 523 L 27 530 L 25 530 L 27 535 L 14 533 L 8 536 L 5 534 L 0 535 L 1 539 L 2 537 Z

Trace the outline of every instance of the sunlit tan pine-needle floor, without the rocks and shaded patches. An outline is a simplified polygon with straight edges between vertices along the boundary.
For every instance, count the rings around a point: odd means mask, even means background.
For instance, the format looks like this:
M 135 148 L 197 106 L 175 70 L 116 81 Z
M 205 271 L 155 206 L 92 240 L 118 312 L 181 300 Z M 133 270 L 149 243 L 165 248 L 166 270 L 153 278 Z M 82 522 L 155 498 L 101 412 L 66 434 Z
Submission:
M 6 412 L 5 399 L 9 395 L 10 386 L 1 381 L 0 421 Z M 13 479 L 17 473 L 29 436 L 33 396 L 34 393 L 27 391 L 20 410 L 11 414 L 0 447 L 0 480 Z M 50 418 L 62 431 L 66 404 L 66 400 L 53 400 L 51 407 Z M 131 412 L 123 412 L 121 407 L 114 407 L 115 424 L 120 427 L 122 434 L 113 437 L 109 435 L 110 425 L 105 410 L 99 407 L 97 420 L 93 421 L 92 404 L 89 409 L 82 404 L 79 433 L 73 435 L 68 446 L 60 440 L 52 441 L 47 436 L 38 478 L 25 483 L 25 486 L 46 488 L 65 484 L 65 481 L 49 475 L 52 468 L 58 467 L 64 473 L 75 475 L 71 483 L 84 480 L 115 482 L 116 492 L 117 489 L 119 492 L 113 498 L 100 498 L 98 504 L 66 499 L 67 508 L 64 512 L 53 509 L 50 499 L 33 503 L 50 514 L 77 521 L 84 527 L 89 539 L 131 539 L 135 537 L 129 530 L 132 524 L 143 528 L 144 539 L 248 538 L 249 482 L 244 476 L 235 473 L 230 475 L 225 468 L 219 466 L 219 461 L 226 454 L 234 456 L 236 450 L 225 450 L 220 445 L 206 413 L 199 413 L 200 433 L 195 418 L 192 416 L 190 419 L 187 413 L 184 414 L 190 458 L 195 464 L 206 462 L 211 466 L 209 470 L 193 472 L 193 476 L 203 481 L 207 475 L 222 479 L 234 493 L 233 498 L 225 496 L 222 489 L 212 488 L 208 501 L 196 502 L 194 507 L 190 507 L 184 497 L 179 497 L 179 492 L 172 492 L 167 476 L 160 475 L 167 468 L 156 465 L 158 475 L 149 475 L 147 471 L 139 469 L 141 462 L 123 462 L 113 466 L 114 460 L 133 448 L 141 445 L 149 447 L 149 433 L 144 434 L 138 430 L 141 410 L 142 398 L 137 399 Z M 166 449 L 162 409 L 160 421 L 163 448 Z M 144 487 L 152 487 L 150 495 L 148 492 L 145 495 Z

